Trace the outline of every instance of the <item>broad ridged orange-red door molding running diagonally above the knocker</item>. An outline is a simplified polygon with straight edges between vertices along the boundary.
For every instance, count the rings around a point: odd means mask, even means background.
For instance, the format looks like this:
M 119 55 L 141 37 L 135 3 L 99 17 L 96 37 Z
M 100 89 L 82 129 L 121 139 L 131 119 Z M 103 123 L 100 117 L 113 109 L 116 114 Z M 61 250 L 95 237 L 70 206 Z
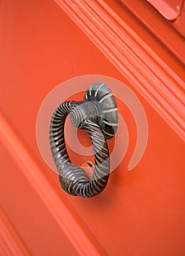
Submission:
M 102 0 L 55 0 L 185 140 L 184 80 Z M 131 15 L 131 14 L 130 14 Z

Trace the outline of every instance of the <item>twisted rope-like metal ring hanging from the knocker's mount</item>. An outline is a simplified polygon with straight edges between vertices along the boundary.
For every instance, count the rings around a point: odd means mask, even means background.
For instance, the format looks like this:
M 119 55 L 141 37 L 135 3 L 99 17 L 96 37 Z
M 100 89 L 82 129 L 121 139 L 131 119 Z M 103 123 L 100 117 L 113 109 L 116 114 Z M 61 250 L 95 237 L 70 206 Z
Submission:
M 50 146 L 58 169 L 61 187 L 70 195 L 94 197 L 100 194 L 109 180 L 109 148 L 101 127 L 95 118 L 84 121 L 95 152 L 95 168 L 92 178 L 81 167 L 73 165 L 68 157 L 64 140 L 66 116 L 76 107 L 74 101 L 63 102 L 56 108 L 50 123 Z

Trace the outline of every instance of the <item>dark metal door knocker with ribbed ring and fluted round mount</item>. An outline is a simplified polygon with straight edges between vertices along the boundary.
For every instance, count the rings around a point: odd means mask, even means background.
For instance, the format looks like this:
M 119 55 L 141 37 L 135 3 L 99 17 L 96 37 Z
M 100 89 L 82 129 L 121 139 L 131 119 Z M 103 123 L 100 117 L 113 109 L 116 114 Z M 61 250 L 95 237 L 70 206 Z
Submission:
M 79 166 L 73 165 L 68 157 L 64 139 L 66 116 L 77 129 L 86 129 L 95 153 L 92 178 Z M 106 140 L 117 132 L 117 103 L 111 90 L 102 82 L 90 85 L 84 101 L 61 103 L 50 122 L 50 146 L 58 169 L 61 187 L 70 195 L 94 197 L 100 194 L 109 180 L 110 159 Z

